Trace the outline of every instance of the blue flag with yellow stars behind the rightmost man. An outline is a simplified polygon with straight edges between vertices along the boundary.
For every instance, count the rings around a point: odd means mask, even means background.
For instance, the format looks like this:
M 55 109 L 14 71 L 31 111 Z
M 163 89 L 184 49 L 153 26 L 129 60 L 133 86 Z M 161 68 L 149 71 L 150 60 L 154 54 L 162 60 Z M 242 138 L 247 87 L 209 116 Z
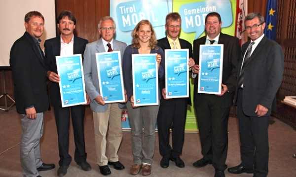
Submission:
M 264 34 L 271 40 L 276 40 L 277 0 L 268 0 L 265 15 Z

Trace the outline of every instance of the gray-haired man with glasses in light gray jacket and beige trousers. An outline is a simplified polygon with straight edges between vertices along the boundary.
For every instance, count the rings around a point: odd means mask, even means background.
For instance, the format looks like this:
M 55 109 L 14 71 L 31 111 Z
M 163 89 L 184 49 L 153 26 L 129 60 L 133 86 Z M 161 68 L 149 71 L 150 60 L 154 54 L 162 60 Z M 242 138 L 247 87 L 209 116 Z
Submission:
M 121 108 L 124 106 L 124 103 L 106 104 L 101 96 L 96 53 L 120 51 L 122 60 L 127 45 L 126 43 L 113 39 L 113 35 L 115 34 L 115 22 L 111 17 L 106 16 L 101 18 L 98 26 L 101 38 L 86 45 L 83 71 L 85 88 L 91 99 L 90 108 L 93 111 L 97 164 L 99 165 L 101 174 L 110 175 L 111 171 L 108 165 L 112 165 L 116 170 L 124 169 L 117 155 L 122 140 Z M 125 100 L 127 101 L 126 94 Z M 108 125 L 109 132 L 107 139 Z M 106 156 L 107 140 L 108 156 Z

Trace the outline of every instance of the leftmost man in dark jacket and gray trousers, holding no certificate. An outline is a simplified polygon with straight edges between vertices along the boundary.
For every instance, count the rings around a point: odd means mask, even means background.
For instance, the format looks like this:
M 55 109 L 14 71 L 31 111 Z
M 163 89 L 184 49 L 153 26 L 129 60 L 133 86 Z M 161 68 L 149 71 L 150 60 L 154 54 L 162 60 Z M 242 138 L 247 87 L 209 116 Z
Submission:
M 17 39 L 10 51 L 16 110 L 22 115 L 20 143 L 24 177 L 40 177 L 38 171 L 55 168 L 41 161 L 40 138 L 43 134 L 44 111 L 49 107 L 46 68 L 39 46 L 44 31 L 44 17 L 31 11 L 25 15 L 25 34 Z

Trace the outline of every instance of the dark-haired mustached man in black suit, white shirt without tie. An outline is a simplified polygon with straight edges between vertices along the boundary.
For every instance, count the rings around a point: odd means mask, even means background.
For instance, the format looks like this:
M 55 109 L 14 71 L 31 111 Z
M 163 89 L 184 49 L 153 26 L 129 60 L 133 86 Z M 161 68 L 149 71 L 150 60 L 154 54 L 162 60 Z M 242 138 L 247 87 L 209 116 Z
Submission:
M 73 54 L 81 54 L 85 50 L 88 43 L 86 39 L 74 36 L 76 19 L 71 11 L 62 11 L 57 18 L 57 27 L 60 29 L 61 36 L 51 38 L 45 41 L 45 65 L 47 69 L 47 77 L 50 83 L 50 101 L 54 107 L 54 115 L 58 132 L 60 168 L 58 169 L 58 177 L 67 174 L 67 169 L 72 161 L 69 154 L 69 126 L 70 112 L 72 117 L 72 125 L 74 131 L 75 153 L 74 160 L 84 171 L 90 171 L 91 167 L 86 162 L 86 152 L 84 143 L 84 115 L 85 106 L 77 105 L 70 107 L 62 107 L 59 81 L 60 76 L 57 74 L 56 56 L 67 56 Z M 83 58 L 82 58 L 83 60 Z M 88 95 L 86 94 L 88 97 Z M 87 102 L 89 104 L 89 98 Z

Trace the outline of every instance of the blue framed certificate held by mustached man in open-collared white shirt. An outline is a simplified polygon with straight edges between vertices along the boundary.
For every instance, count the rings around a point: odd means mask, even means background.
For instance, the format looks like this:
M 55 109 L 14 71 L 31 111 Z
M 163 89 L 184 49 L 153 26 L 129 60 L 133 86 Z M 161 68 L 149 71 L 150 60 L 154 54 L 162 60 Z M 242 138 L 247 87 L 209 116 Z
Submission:
M 81 54 L 56 56 L 62 107 L 86 104 Z

